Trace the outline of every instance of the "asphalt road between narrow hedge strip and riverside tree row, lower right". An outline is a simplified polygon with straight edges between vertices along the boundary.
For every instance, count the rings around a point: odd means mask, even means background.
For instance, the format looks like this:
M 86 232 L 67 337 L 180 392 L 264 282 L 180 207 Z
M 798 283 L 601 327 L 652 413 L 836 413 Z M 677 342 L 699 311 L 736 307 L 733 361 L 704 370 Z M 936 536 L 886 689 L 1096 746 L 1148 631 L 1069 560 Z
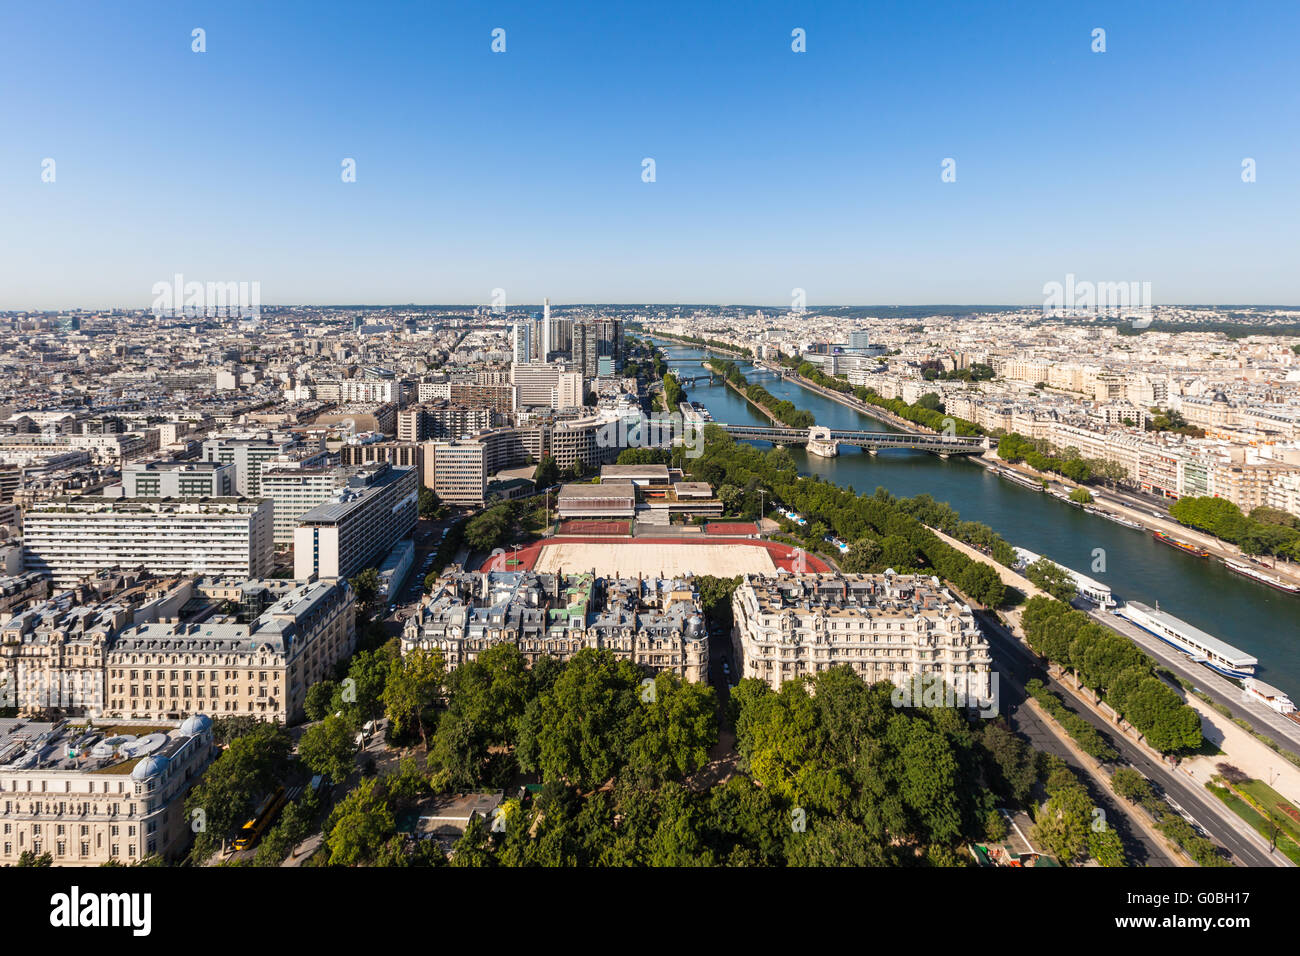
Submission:
M 1030 676 L 1035 676 L 1060 695 L 1063 701 L 1071 704 L 1070 709 L 1101 731 L 1110 745 L 1119 752 L 1130 766 L 1141 771 L 1143 775 L 1157 784 L 1164 791 L 1166 799 L 1182 806 L 1197 826 L 1209 834 L 1221 847 L 1225 847 L 1232 855 L 1234 862 L 1240 866 L 1290 865 L 1290 860 L 1282 853 L 1274 852 L 1270 855 L 1262 836 L 1251 830 L 1245 821 L 1236 817 L 1227 806 L 1218 804 L 1216 797 L 1202 790 L 1195 780 L 1184 778 L 1176 770 L 1170 770 L 1160 761 L 1148 757 L 1145 750 L 1123 734 L 1115 732 L 1110 724 L 1096 715 L 1089 708 L 1074 704 L 1074 696 L 1070 689 L 1050 678 L 1037 665 L 1030 649 L 1020 644 L 1000 622 L 985 614 L 980 614 L 979 617 L 983 631 L 989 639 L 989 645 L 994 650 L 994 662 L 997 662 L 1000 670 L 1004 666 L 1009 667 L 1013 675 L 1020 679 L 1022 683 Z M 1020 674 L 1027 676 L 1022 679 L 1019 678 Z M 1020 709 L 1020 714 L 1027 711 L 1028 708 Z M 1218 805 L 1216 806 L 1216 804 Z M 1106 818 L 1113 819 L 1109 813 Z

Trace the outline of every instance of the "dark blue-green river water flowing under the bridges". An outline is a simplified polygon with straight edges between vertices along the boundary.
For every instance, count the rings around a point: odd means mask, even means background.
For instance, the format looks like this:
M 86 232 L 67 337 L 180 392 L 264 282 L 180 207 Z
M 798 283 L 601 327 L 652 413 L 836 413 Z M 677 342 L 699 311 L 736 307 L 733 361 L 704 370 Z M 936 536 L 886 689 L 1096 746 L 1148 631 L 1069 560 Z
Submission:
M 653 339 L 654 341 L 654 339 Z M 668 365 L 689 377 L 707 373 L 701 349 L 656 341 Z M 819 425 L 874 432 L 894 431 L 853 408 L 771 372 L 737 363 L 750 382 L 816 416 Z M 715 421 L 771 424 L 744 398 L 722 384 L 686 385 L 686 397 L 708 408 Z M 758 442 L 766 445 L 766 442 Z M 790 449 L 807 475 L 822 475 L 858 492 L 878 486 L 898 497 L 930 494 L 946 501 L 965 520 L 983 522 L 1013 545 L 1045 554 L 1108 584 L 1121 601 L 1160 602 L 1169 614 L 1260 658 L 1257 674 L 1300 701 L 1300 596 L 1284 594 L 1240 578 L 1217 561 L 1196 558 L 1158 544 L 1148 532 L 1088 515 L 1049 494 L 1000 479 L 961 458 L 944 460 L 923 451 L 888 450 L 878 455 L 841 445 L 838 458 Z M 1096 563 L 1104 558 L 1104 567 Z

